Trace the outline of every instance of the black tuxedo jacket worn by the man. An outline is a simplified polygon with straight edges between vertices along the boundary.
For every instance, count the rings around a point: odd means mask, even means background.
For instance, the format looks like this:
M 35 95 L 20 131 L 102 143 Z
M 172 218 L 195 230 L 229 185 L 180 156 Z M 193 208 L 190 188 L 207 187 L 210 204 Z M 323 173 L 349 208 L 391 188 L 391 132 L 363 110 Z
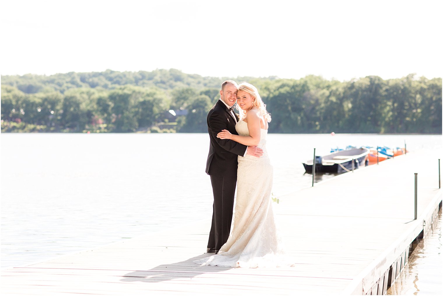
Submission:
M 207 117 L 210 138 L 206 174 L 218 176 L 237 175 L 237 155 L 244 156 L 247 146 L 233 140 L 219 139 L 217 134 L 222 129 L 238 135 L 235 130 L 236 121 L 222 101 L 218 100 L 210 109 Z M 238 121 L 238 120 L 237 120 Z

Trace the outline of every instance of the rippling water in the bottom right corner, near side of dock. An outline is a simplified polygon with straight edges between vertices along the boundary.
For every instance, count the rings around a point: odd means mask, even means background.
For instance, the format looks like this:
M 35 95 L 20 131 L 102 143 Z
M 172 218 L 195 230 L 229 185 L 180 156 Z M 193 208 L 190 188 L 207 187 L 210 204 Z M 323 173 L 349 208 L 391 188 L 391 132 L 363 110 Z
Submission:
M 430 231 L 416 246 L 388 295 L 443 295 L 442 209 Z

